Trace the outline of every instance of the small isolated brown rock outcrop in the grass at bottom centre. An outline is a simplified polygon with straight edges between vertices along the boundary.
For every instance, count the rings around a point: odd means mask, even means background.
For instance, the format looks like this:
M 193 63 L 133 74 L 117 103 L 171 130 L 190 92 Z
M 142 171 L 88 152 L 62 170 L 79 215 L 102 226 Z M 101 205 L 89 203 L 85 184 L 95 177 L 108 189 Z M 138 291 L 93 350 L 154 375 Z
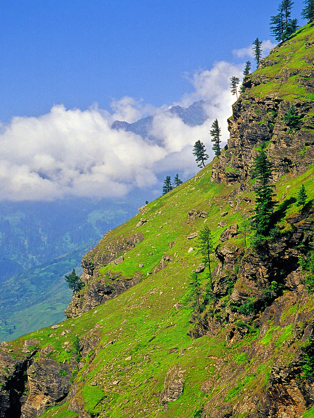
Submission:
M 164 389 L 162 390 L 162 393 L 160 393 L 159 401 L 159 406 L 161 406 L 164 411 L 167 410 L 167 404 L 169 402 L 177 400 L 183 393 L 183 383 L 185 382 L 183 377 L 184 372 L 185 370 L 182 370 L 182 367 L 179 365 L 170 367 L 167 371 Z

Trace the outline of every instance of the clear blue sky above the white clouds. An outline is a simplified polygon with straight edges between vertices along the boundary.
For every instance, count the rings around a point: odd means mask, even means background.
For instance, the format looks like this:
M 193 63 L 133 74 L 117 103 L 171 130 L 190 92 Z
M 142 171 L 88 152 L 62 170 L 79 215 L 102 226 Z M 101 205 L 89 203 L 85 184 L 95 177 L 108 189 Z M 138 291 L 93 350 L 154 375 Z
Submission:
M 273 0 L 1 3 L 3 122 L 61 103 L 109 109 L 112 97 L 125 95 L 170 105 L 192 89 L 184 74 L 215 61 L 240 62 L 233 49 L 270 39 L 268 23 L 278 7 Z M 303 7 L 295 1 L 299 20 Z

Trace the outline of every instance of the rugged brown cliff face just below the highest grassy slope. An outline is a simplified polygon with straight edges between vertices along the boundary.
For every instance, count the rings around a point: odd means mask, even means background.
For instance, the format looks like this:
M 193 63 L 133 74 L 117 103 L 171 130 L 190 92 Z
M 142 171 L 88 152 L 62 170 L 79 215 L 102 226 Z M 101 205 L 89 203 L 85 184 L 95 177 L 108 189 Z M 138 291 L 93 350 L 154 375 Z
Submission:
M 284 81 L 285 74 L 282 73 L 280 77 Z M 308 76 L 299 77 L 300 82 L 308 79 Z M 251 88 L 268 81 L 258 79 L 258 75 L 254 74 L 245 78 L 245 85 Z M 309 87 L 309 92 L 314 92 L 313 87 Z M 232 184 L 240 182 L 241 189 L 246 189 L 247 180 L 252 178 L 254 158 L 257 155 L 255 147 L 267 141 L 270 141 L 268 157 L 275 167 L 274 181 L 288 171 L 294 176 L 304 173 L 314 159 L 314 140 L 311 135 L 314 119 L 307 117 L 300 121 L 298 128 L 290 132 L 289 126 L 283 122 L 283 116 L 291 104 L 300 118 L 314 109 L 311 100 L 293 100 L 292 103 L 275 94 L 269 94 L 263 99 L 250 95 L 249 91 L 241 94 L 232 107 L 233 116 L 228 119 L 230 138 L 226 152 L 214 163 L 211 181 Z

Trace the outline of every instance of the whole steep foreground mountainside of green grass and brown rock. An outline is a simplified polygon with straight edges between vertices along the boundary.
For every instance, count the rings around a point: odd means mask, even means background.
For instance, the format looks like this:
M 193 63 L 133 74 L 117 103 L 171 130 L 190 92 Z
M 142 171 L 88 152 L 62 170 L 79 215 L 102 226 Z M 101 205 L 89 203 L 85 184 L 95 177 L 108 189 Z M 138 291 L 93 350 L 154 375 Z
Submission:
M 0 345 L 1 418 L 313 416 L 314 303 L 299 265 L 313 242 L 313 43 L 306 25 L 271 51 L 245 79 L 221 156 L 83 257 L 66 321 Z M 277 227 L 256 249 L 243 219 L 262 147 Z M 196 251 L 205 225 L 212 283 Z

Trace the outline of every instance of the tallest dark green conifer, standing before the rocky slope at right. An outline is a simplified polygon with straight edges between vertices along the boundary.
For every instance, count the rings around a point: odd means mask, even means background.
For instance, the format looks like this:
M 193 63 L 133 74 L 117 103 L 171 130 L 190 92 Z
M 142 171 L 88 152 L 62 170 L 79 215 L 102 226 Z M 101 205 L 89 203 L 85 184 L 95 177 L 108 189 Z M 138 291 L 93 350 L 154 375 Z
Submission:
M 254 161 L 257 186 L 255 188 L 255 229 L 256 233 L 266 237 L 270 229 L 271 215 L 273 213 L 273 184 L 269 184 L 272 164 L 268 161 L 265 150 L 260 151 Z

